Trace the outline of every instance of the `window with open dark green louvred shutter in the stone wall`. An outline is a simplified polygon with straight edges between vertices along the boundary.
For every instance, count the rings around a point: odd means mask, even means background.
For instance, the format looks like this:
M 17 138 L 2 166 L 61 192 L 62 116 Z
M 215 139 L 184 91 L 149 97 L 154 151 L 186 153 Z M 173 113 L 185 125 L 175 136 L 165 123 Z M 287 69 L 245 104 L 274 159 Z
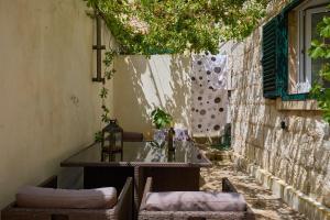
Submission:
M 324 61 L 308 55 L 329 0 L 294 0 L 263 26 L 264 97 L 305 99 Z M 328 86 L 328 85 L 326 85 Z M 329 85 L 330 86 L 330 85 Z

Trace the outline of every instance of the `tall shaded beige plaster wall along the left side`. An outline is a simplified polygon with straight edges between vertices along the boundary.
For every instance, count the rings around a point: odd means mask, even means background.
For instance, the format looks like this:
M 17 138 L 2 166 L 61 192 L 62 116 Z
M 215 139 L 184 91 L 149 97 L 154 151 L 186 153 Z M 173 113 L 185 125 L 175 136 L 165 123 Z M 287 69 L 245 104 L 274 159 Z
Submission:
M 99 129 L 85 10 L 81 0 L 0 0 L 0 208 L 58 173 Z

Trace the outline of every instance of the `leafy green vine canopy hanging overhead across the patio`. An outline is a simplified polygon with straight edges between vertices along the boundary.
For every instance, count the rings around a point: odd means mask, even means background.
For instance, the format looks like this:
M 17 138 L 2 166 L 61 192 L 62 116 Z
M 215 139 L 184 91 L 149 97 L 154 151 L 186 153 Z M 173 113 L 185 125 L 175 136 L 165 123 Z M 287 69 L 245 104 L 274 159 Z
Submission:
M 266 0 L 84 0 L 124 54 L 216 53 L 219 41 L 248 36 Z

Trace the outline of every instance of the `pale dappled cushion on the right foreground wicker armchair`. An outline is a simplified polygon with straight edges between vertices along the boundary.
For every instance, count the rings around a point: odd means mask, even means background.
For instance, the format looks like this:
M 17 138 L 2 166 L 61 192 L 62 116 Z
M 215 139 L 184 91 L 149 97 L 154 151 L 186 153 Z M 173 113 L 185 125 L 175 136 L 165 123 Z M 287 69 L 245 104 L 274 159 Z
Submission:
M 246 202 L 242 195 L 234 193 L 150 193 L 143 208 L 148 211 L 245 211 Z

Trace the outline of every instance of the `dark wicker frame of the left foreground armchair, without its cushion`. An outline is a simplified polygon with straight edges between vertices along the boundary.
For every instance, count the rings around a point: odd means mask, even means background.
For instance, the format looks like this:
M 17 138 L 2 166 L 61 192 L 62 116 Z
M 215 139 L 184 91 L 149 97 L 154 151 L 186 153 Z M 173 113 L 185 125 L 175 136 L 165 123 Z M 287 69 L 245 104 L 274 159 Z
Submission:
M 57 177 L 52 177 L 42 187 L 56 188 Z M 123 186 L 118 202 L 111 209 L 33 209 L 20 208 L 15 202 L 1 211 L 2 220 L 131 220 L 132 178 Z

